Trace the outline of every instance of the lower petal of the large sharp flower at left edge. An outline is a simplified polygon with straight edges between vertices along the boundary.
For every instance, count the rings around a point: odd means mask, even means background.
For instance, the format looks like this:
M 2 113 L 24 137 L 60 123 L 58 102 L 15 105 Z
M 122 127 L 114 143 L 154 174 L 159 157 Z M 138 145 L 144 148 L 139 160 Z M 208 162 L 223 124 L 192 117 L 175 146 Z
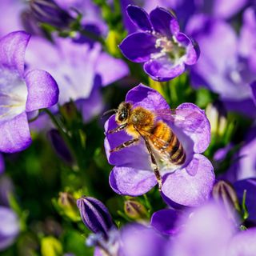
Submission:
M 0 151 L 14 153 L 30 146 L 30 129 L 26 113 L 0 124 Z

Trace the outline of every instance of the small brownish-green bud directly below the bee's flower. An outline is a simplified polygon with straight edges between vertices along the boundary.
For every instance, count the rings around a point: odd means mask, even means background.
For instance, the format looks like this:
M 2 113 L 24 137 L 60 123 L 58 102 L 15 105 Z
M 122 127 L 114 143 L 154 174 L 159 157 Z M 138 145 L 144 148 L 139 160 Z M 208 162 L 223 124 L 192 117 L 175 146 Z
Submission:
M 126 200 L 124 205 L 125 213 L 132 219 L 146 218 L 146 208 L 135 200 Z

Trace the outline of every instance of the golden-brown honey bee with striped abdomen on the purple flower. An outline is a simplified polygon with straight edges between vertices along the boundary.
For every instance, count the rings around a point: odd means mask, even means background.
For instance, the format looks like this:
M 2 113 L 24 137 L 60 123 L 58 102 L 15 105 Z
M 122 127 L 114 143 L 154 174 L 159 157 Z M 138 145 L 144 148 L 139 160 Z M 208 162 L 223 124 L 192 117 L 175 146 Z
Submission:
M 158 188 L 161 191 L 162 177 L 157 159 L 164 159 L 172 165 L 181 166 L 186 161 L 186 152 L 182 143 L 179 142 L 178 137 L 166 122 L 157 120 L 158 115 L 154 111 L 147 110 L 142 106 L 133 107 L 130 102 L 122 102 L 118 109 L 108 110 L 103 115 L 113 112 L 118 126 L 107 133 L 114 134 L 125 130 L 127 134 L 132 136 L 132 139 L 116 146 L 110 152 L 134 145 L 142 138 L 150 154 L 151 166 L 158 181 Z

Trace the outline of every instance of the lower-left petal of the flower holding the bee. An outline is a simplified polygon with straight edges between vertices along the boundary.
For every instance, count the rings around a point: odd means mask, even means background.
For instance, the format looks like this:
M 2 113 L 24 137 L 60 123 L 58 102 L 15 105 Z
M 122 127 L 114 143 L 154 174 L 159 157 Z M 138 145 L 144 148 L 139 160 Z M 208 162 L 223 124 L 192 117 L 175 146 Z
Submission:
M 138 196 L 157 184 L 152 170 L 115 166 L 110 173 L 110 186 L 118 194 Z

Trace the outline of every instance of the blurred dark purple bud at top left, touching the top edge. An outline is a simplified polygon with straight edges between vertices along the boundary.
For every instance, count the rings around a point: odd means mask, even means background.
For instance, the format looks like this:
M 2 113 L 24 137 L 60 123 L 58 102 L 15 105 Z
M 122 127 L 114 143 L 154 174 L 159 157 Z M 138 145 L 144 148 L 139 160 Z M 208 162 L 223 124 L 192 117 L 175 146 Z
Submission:
M 74 21 L 74 18 L 53 0 L 30 0 L 30 9 L 38 22 L 48 23 L 58 28 L 66 28 Z

